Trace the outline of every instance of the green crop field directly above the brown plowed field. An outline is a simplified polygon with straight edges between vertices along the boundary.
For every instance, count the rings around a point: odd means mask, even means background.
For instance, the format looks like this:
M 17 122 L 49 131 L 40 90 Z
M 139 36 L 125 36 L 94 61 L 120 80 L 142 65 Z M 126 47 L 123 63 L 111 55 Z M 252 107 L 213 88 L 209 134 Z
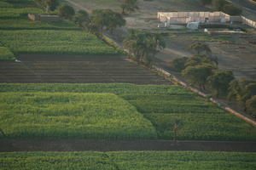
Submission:
M 15 54 L 118 54 L 83 31 L 0 31 L 0 42 Z

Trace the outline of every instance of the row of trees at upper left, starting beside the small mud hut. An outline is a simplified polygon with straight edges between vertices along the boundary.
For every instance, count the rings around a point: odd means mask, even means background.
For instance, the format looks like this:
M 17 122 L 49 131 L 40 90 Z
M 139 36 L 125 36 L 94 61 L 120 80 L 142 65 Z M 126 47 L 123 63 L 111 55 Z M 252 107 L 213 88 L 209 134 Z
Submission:
M 127 2 L 129 3 L 130 1 Z M 75 13 L 73 7 L 67 4 L 62 4 L 58 7 L 58 0 L 38 0 L 37 3 L 47 12 L 57 8 L 58 14 L 62 18 L 73 21 L 98 37 L 102 37 L 103 30 L 113 32 L 116 27 L 125 26 L 123 15 L 111 9 L 95 9 L 92 14 L 88 14 L 84 10 L 79 10 Z M 131 11 L 131 8 L 128 7 L 129 5 L 124 7 L 125 12 Z

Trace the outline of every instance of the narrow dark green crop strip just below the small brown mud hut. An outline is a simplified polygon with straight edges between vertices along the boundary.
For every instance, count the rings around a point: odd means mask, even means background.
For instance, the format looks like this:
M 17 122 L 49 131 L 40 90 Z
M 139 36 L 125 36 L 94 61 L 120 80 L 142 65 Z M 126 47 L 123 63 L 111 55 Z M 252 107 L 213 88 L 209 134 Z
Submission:
M 65 21 L 45 22 L 28 19 L 0 19 L 0 30 L 81 30 Z

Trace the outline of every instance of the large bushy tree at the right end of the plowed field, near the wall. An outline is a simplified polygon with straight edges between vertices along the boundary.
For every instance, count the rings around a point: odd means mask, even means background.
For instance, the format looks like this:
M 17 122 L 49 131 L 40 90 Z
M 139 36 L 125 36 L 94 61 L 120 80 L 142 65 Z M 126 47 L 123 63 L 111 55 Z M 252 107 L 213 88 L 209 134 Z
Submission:
M 131 57 L 135 58 L 134 60 L 148 65 L 148 61 L 165 48 L 166 43 L 160 34 L 131 30 L 125 37 L 124 47 L 128 49 Z

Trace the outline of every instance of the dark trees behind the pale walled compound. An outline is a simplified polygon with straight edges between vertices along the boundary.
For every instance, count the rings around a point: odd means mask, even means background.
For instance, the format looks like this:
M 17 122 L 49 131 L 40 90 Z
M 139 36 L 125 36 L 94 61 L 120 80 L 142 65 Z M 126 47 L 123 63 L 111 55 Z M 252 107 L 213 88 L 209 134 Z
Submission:
M 230 15 L 241 14 L 241 8 L 236 7 L 234 4 L 226 0 L 200 0 L 204 5 L 212 5 L 212 8 L 218 11 L 223 11 Z

